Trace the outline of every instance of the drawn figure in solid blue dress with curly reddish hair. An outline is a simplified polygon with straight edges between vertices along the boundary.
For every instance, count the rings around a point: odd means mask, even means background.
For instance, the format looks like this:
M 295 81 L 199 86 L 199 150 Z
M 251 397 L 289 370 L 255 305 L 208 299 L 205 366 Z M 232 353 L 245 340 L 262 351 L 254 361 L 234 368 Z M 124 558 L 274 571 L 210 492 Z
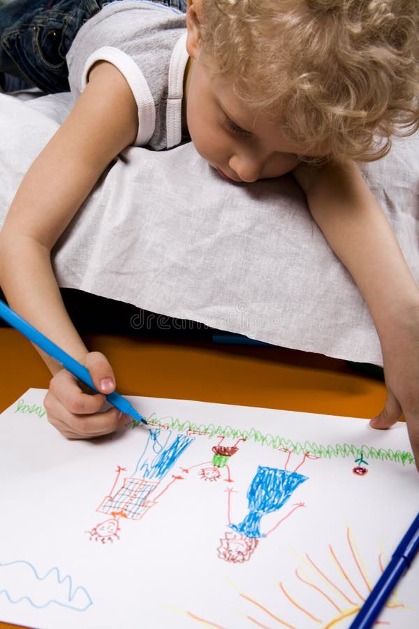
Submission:
M 226 489 L 228 492 L 228 526 L 232 530 L 227 531 L 220 540 L 220 546 L 217 549 L 219 558 L 232 563 L 249 561 L 261 537 L 270 535 L 296 509 L 305 506 L 304 503 L 294 504 L 293 509 L 282 517 L 273 528 L 266 533 L 261 532 L 260 525 L 263 517 L 269 513 L 279 511 L 291 498 L 297 487 L 307 481 L 308 477 L 300 474 L 297 470 L 307 458 L 318 458 L 306 453 L 300 465 L 297 465 L 295 470 L 289 471 L 286 467 L 290 457 L 291 453 L 288 452 L 284 468 L 258 466 L 258 470 L 247 490 L 249 512 L 239 523 L 231 523 L 230 501 L 233 490 L 230 487 Z

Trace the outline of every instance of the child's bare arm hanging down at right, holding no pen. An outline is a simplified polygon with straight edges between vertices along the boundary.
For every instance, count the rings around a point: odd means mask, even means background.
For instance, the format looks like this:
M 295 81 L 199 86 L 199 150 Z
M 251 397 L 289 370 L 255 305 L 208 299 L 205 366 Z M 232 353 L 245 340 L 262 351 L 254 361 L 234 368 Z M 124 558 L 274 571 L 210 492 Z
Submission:
M 372 420 L 406 419 L 419 470 L 419 289 L 383 211 L 357 166 L 297 166 L 311 215 L 348 268 L 371 312 L 383 351 L 387 400 Z

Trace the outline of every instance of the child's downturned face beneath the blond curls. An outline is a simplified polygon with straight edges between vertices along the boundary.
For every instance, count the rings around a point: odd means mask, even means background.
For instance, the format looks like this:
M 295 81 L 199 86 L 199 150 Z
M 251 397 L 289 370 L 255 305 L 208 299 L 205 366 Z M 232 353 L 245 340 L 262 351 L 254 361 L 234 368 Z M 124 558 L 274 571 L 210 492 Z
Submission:
M 284 138 L 280 124 L 244 106 L 230 83 L 214 75 L 199 56 L 191 65 L 186 118 L 201 157 L 235 182 L 270 179 L 292 171 L 302 151 Z

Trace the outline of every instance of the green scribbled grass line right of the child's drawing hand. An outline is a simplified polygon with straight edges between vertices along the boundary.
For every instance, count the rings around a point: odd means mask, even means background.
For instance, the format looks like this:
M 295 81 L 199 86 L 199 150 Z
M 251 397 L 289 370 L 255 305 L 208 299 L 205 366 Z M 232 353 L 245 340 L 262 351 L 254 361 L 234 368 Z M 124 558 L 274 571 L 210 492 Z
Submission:
M 226 437 L 232 440 L 245 439 L 247 441 L 253 441 L 263 446 L 272 448 L 273 450 L 285 449 L 292 451 L 294 454 L 304 454 L 309 452 L 314 456 L 320 458 L 362 458 L 362 459 L 376 459 L 378 461 L 391 461 L 392 463 L 402 463 L 402 465 L 412 465 L 414 463 L 413 454 L 411 452 L 402 450 L 392 450 L 383 448 L 374 448 L 368 445 L 355 446 L 351 443 L 337 443 L 337 444 L 321 444 L 315 441 L 293 441 L 281 435 L 272 435 L 270 433 L 262 433 L 251 428 L 249 431 L 244 431 L 240 428 L 233 428 L 233 426 L 219 426 L 216 424 L 194 424 L 191 421 L 181 421 L 177 417 L 156 417 L 156 413 L 152 413 L 149 417 L 145 417 L 148 424 L 158 424 L 164 428 L 178 431 L 181 433 L 191 432 L 200 433 L 207 436 L 208 439 L 213 437 Z M 130 422 L 135 427 L 135 424 Z M 136 422 L 138 424 L 138 422 Z

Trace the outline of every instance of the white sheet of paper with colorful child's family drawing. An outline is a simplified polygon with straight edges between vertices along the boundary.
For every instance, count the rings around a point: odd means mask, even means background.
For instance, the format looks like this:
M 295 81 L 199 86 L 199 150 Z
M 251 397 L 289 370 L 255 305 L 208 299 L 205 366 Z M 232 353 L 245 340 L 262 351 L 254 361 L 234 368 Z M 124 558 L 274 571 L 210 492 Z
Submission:
M 0 417 L 0 619 L 42 629 L 348 627 L 413 520 L 399 424 L 129 398 L 68 441 L 30 389 Z M 381 621 L 419 626 L 419 561 Z

